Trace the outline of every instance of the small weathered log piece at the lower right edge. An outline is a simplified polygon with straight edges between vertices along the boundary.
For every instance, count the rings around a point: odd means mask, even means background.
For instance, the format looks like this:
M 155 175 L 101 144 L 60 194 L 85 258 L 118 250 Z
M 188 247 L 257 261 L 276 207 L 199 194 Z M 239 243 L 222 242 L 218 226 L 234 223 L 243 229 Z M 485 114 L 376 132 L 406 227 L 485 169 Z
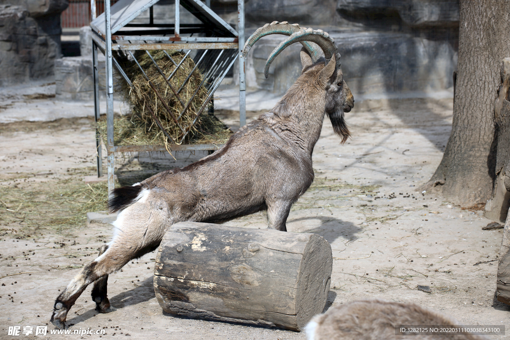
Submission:
M 498 258 L 496 299 L 510 305 L 510 214 L 506 217 Z

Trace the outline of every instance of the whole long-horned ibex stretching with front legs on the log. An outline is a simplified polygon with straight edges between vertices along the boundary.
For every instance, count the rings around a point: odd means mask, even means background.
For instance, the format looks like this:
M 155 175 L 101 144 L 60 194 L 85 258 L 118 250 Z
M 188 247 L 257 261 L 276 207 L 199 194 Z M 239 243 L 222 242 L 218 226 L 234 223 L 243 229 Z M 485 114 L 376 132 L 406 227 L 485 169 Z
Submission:
M 119 212 L 113 239 L 57 298 L 51 318 L 55 326 L 66 327 L 69 309 L 92 282 L 97 311 L 115 310 L 107 298 L 108 275 L 155 250 L 174 223 L 222 223 L 267 210 L 268 227 L 287 231 L 291 205 L 314 178 L 312 151 L 324 115 L 345 142 L 350 134 L 344 112 L 354 106 L 354 98 L 343 80 L 337 46 L 327 33 L 273 22 L 250 37 L 244 57 L 257 40 L 269 34 L 289 38 L 273 50 L 266 69 L 286 46 L 294 42 L 305 46 L 296 82 L 270 112 L 241 127 L 211 155 L 112 191 L 108 207 L 112 213 Z M 317 58 L 319 50 L 307 41 L 317 44 L 325 58 Z

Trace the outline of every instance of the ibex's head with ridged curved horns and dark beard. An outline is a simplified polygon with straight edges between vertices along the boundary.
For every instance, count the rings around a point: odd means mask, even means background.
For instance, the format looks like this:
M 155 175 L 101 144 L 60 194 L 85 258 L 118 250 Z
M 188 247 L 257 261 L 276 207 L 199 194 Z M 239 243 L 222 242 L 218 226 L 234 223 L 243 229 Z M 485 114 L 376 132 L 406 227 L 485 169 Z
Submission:
M 308 74 L 312 77 L 314 85 L 324 93 L 324 111 L 329 116 L 335 133 L 340 136 L 342 143 L 349 138 L 350 133 L 344 120 L 344 112 L 349 112 L 354 107 L 354 97 L 343 80 L 343 73 L 340 69 L 340 54 L 333 39 L 322 30 L 301 29 L 298 24 L 273 21 L 270 24 L 258 29 L 246 41 L 243 49 L 243 57 L 246 57 L 251 46 L 260 38 L 270 34 L 283 34 L 289 36 L 272 51 L 266 62 L 264 74 L 269 75 L 269 67 L 273 60 L 287 46 L 300 42 L 301 49 L 301 75 Z M 322 49 L 324 57 L 320 56 Z M 310 84 L 310 86 L 314 86 Z

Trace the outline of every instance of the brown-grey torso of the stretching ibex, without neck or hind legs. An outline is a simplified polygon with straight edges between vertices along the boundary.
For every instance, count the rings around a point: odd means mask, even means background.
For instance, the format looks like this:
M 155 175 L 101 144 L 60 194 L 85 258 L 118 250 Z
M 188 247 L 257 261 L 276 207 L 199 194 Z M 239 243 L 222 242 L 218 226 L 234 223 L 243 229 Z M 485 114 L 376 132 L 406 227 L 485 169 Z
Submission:
M 312 180 L 311 154 L 258 119 L 215 153 L 156 174 L 140 186 L 149 190 L 150 200 L 167 202 L 174 223 L 221 223 L 265 210 L 268 197 L 294 202 Z

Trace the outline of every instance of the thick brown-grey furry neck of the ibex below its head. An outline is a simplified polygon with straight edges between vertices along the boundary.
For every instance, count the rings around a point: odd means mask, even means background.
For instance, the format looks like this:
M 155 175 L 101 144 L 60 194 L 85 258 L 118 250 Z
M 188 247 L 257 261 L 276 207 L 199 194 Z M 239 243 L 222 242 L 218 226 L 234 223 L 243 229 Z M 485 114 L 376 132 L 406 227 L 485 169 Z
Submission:
M 324 99 L 302 88 L 295 90 L 289 89 L 271 110 L 273 129 L 312 154 L 324 121 Z

